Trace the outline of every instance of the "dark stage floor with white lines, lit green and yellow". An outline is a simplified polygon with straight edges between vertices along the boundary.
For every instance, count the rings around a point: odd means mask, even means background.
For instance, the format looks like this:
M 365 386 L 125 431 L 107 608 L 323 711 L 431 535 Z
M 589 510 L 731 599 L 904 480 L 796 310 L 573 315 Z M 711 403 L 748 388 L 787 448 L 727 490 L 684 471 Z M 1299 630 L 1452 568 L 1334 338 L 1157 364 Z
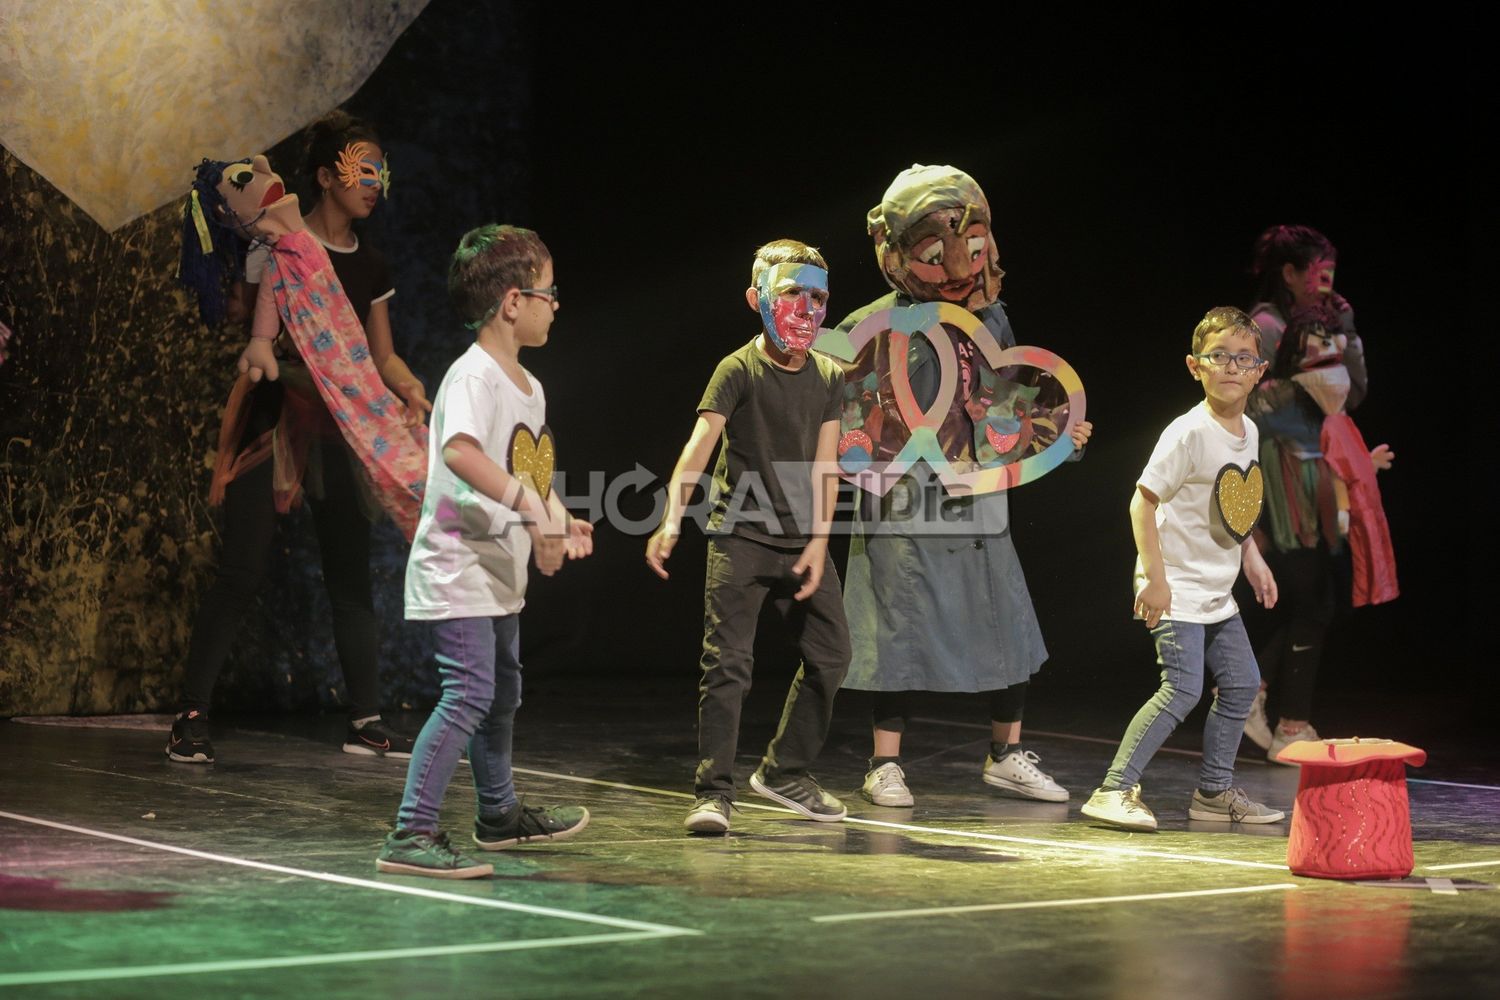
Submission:
M 794 819 L 746 792 L 732 834 L 693 837 L 681 828 L 696 757 L 686 684 L 528 693 L 520 792 L 584 804 L 592 822 L 572 841 L 486 855 L 495 876 L 472 882 L 375 873 L 405 762 L 340 753 L 336 717 L 216 718 L 212 766 L 166 760 L 166 717 L 0 723 L 0 987 L 38 997 L 1500 996 L 1500 892 L 1480 888 L 1500 882 L 1494 760 L 1428 747 L 1430 766 L 1408 772 L 1413 876 L 1430 880 L 1419 889 L 1294 877 L 1286 823 L 1188 822 L 1197 717 L 1144 777 L 1161 831 L 1090 825 L 1078 807 L 1132 706 L 1048 711 L 1046 699 L 1034 699 L 1026 742 L 1072 792 L 1066 804 L 984 786 L 982 705 L 945 697 L 906 738 L 916 808 L 872 807 L 855 793 L 868 738 L 850 703 L 816 771 L 849 804 L 848 822 Z M 784 691 L 771 687 L 747 708 L 741 783 Z M 414 730 L 422 718 L 400 721 Z M 1290 813 L 1296 771 L 1251 751 L 1239 781 Z M 466 840 L 471 819 L 460 766 L 444 826 Z

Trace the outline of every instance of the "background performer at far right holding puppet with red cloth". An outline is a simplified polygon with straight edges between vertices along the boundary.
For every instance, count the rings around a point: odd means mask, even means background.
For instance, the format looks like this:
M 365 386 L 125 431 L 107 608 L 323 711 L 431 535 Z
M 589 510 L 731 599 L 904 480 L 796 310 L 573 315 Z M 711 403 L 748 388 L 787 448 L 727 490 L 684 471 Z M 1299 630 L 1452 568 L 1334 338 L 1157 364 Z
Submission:
M 1245 735 L 1275 762 L 1317 739 L 1308 721 L 1329 628 L 1352 583 L 1353 604 L 1396 597 L 1395 555 L 1376 471 L 1395 459 L 1365 447 L 1348 412 L 1370 388 L 1354 310 L 1334 291 L 1338 250 L 1311 226 L 1272 226 L 1256 240 L 1260 285 L 1250 309 L 1270 363 L 1250 400 L 1266 474 L 1266 561 L 1281 601 L 1264 615 L 1263 685 Z M 1254 621 L 1251 622 L 1256 624 Z M 1272 729 L 1269 717 L 1280 717 Z

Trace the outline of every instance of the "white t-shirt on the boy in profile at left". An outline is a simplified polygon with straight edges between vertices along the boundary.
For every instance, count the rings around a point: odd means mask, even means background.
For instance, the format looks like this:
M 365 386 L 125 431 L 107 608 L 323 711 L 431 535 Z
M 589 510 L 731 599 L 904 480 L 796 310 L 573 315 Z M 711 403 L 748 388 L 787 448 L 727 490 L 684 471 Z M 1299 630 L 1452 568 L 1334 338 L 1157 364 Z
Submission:
M 442 376 L 432 402 L 428 492 L 406 559 L 408 619 L 498 618 L 525 606 L 531 535 L 514 510 L 453 474 L 442 460 L 442 445 L 465 433 L 512 472 L 516 427 L 540 436 L 546 423 L 542 382 L 531 372 L 526 382 L 530 396 L 477 343 Z

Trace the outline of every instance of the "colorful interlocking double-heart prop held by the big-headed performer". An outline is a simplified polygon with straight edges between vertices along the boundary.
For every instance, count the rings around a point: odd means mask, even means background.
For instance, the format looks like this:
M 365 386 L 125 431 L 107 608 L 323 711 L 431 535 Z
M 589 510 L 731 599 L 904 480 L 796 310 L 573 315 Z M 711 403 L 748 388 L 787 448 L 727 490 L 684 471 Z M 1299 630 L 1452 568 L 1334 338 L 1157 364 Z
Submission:
M 976 427 L 975 460 L 962 468 L 950 462 L 938 436 L 962 379 L 952 340 L 944 327 L 968 336 L 988 366 L 978 399 L 966 403 Z M 906 370 L 914 336 L 927 339 L 939 364 L 938 394 L 926 411 L 916 402 Z M 1077 372 L 1052 351 L 1002 348 L 990 328 L 962 306 L 918 303 L 882 309 L 849 333 L 825 330 L 813 346 L 849 363 L 838 471 L 849 483 L 878 496 L 890 492 L 918 460 L 938 472 L 950 493 L 974 495 L 1041 478 L 1074 451 L 1071 430 L 1083 420 L 1084 406 Z M 1010 381 L 1008 376 L 1020 369 L 1036 369 L 1032 375 L 1038 384 Z M 1044 381 L 1052 382 L 1046 387 L 1052 405 L 1038 399 Z

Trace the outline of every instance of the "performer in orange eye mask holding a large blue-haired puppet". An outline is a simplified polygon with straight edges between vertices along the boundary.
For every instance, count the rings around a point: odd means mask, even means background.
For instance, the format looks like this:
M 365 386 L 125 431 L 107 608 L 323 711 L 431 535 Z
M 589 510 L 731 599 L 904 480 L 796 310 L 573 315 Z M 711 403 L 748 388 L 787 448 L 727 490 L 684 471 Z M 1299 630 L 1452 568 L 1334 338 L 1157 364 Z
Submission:
M 231 166 L 236 177 L 243 178 L 243 189 L 224 180 Z M 332 274 L 324 277 L 336 277 L 332 283 L 339 288 L 338 298 L 346 300 L 345 319 L 352 324 L 345 360 L 350 367 L 357 369 L 357 378 L 350 379 L 348 385 L 370 394 L 386 411 L 381 424 L 386 433 L 374 436 L 370 447 L 381 447 L 384 441 L 387 453 L 404 454 L 402 478 L 412 478 L 416 471 L 418 492 L 398 489 L 393 498 L 396 511 L 414 525 L 420 480 L 426 475 L 420 465 L 424 460 L 422 421 L 430 406 L 422 382 L 411 375 L 392 343 L 388 300 L 394 295 L 394 288 L 386 259 L 352 231 L 352 222 L 369 216 L 386 192 L 390 172 L 384 151 L 369 126 L 336 112 L 309 129 L 306 169 L 320 190 L 308 217 L 297 217 L 296 198 L 290 195 L 278 196 L 285 204 L 278 202 L 276 211 L 291 216 L 284 219 L 288 231 L 303 225 L 304 229 L 298 232 L 303 244 L 315 243 L 324 253 L 324 261 L 332 262 Z M 208 709 L 214 682 L 230 655 L 244 610 L 270 567 L 276 513 L 285 513 L 306 495 L 318 534 L 322 580 L 333 610 L 334 646 L 350 697 L 350 727 L 344 750 L 352 754 L 406 757 L 411 753 L 411 738 L 390 729 L 380 717 L 378 630 L 370 595 L 369 553 L 370 522 L 381 516 L 381 502 L 370 489 L 362 459 L 345 441 L 340 424 L 315 388 L 297 348 L 286 339 L 280 348 L 286 357 L 278 360 L 272 351 L 270 337 L 278 334 L 279 313 L 274 288 L 261 282 L 274 256 L 268 243 L 256 241 L 250 247 L 249 258 L 244 259 L 248 283 L 237 283 L 228 303 L 224 298 L 224 277 L 226 273 L 237 273 L 244 256 L 246 234 L 230 214 L 222 192 L 242 201 L 249 196 L 254 204 L 242 204 L 244 219 L 258 219 L 262 207 L 255 192 L 266 196 L 280 190 L 279 178 L 273 178 L 268 165 L 256 174 L 254 163 L 206 163 L 200 168 L 200 181 L 194 189 L 200 210 L 194 213 L 189 205 L 184 213 L 183 279 L 198 292 L 204 319 L 218 322 L 226 306 L 231 315 L 243 316 L 246 301 L 264 303 L 266 295 L 270 295 L 270 301 L 261 306 L 262 336 L 252 340 L 255 370 L 246 370 L 236 382 L 219 432 L 219 463 L 210 499 L 224 504 L 224 547 L 219 574 L 194 621 L 182 712 L 172 724 L 166 754 L 186 763 L 213 762 Z M 264 222 L 266 219 L 260 219 L 256 225 Z M 201 232 L 198 223 L 202 226 Z M 207 252 L 204 237 L 208 238 Z M 292 241 L 286 241 L 284 249 L 291 244 Z M 306 298 L 303 301 L 308 304 L 300 309 L 315 307 L 315 303 Z M 320 309 L 318 315 L 326 313 Z M 336 327 L 330 322 L 324 328 L 330 331 L 332 346 L 332 331 Z M 250 367 L 248 360 L 244 367 Z M 261 373 L 272 378 L 260 378 Z M 405 406 L 394 400 L 387 385 L 405 399 Z M 357 418 L 358 415 L 354 420 Z

